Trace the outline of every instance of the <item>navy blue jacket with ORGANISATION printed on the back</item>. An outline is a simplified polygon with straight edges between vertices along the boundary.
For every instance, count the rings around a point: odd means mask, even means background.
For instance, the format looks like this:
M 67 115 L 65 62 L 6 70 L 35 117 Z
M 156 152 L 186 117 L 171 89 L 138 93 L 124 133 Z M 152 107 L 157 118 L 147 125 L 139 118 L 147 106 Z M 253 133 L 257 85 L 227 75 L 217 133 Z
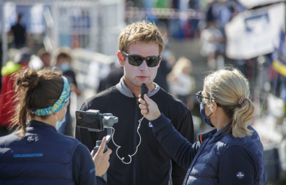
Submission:
M 23 138 L 0 138 L 0 184 L 96 184 L 93 160 L 82 143 L 43 122 L 29 124 Z

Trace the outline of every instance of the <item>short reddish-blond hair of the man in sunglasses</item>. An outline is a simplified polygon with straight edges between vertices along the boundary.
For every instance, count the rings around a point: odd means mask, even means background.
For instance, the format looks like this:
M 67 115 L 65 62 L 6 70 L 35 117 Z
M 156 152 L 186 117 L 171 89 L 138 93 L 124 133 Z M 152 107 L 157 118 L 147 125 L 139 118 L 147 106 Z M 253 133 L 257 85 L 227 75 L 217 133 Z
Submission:
M 119 50 L 128 52 L 130 44 L 137 42 L 156 43 L 159 46 L 159 54 L 165 49 L 166 38 L 160 32 L 155 23 L 143 20 L 129 24 L 119 36 Z

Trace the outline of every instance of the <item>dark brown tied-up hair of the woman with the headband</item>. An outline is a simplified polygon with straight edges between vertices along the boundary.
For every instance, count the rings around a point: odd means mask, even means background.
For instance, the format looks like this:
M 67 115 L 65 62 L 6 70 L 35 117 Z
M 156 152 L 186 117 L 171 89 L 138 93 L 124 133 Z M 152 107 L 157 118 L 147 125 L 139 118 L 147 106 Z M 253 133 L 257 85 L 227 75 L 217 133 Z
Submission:
M 22 130 L 24 136 L 27 121 L 33 119 L 31 109 L 48 108 L 59 99 L 63 90 L 61 71 L 45 68 L 36 71 L 31 68 L 24 69 L 15 74 L 15 116 L 12 119 L 16 131 Z M 46 116 L 41 116 L 45 119 Z

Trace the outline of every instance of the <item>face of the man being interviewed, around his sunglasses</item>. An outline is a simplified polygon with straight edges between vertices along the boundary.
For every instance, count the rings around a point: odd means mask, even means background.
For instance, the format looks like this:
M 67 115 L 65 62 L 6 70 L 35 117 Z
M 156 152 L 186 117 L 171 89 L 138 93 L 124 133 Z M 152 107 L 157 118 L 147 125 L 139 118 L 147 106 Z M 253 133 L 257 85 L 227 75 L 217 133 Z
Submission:
M 158 57 L 159 46 L 156 43 L 137 42 L 128 46 L 127 54 L 139 55 L 141 57 Z M 125 71 L 124 80 L 129 89 L 141 87 L 142 83 L 147 84 L 147 86 L 153 83 L 160 66 L 159 62 L 158 66 L 148 67 L 145 60 L 140 66 L 133 66 L 128 63 L 128 57 L 123 62 Z

